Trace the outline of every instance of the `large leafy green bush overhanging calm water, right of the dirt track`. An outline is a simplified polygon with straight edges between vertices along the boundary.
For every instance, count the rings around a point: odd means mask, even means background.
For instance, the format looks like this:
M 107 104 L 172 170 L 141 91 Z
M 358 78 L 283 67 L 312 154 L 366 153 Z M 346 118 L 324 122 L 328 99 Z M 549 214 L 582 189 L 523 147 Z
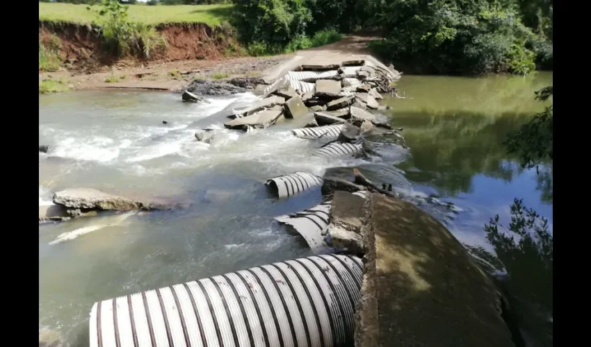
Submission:
M 535 69 L 531 47 L 537 35 L 512 6 L 485 0 L 387 3 L 376 20 L 387 32 L 382 53 L 389 58 L 436 74 L 528 74 Z

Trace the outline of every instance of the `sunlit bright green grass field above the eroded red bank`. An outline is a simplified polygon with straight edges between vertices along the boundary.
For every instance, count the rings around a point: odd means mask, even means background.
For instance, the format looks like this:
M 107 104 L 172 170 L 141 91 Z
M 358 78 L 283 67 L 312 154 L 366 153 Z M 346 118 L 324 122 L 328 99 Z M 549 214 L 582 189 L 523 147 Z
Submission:
M 39 20 L 88 24 L 97 18 L 87 5 L 39 3 Z M 129 17 L 145 24 L 205 23 L 215 26 L 229 18 L 232 5 L 129 6 Z

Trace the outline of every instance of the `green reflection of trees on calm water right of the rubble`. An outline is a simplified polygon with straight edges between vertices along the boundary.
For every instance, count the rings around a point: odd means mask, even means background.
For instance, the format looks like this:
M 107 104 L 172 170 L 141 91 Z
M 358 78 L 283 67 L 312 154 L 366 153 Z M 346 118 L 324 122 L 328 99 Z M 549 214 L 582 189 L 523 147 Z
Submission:
M 435 187 L 440 196 L 471 192 L 478 174 L 512 181 L 524 170 L 508 164 L 516 158 L 502 143 L 543 109 L 533 96 L 550 81 L 548 73 L 531 78 L 405 76 L 400 90 L 412 99 L 387 100 L 412 153 L 400 168 L 411 181 Z M 549 177 L 551 169 L 544 168 L 544 201 L 551 196 Z

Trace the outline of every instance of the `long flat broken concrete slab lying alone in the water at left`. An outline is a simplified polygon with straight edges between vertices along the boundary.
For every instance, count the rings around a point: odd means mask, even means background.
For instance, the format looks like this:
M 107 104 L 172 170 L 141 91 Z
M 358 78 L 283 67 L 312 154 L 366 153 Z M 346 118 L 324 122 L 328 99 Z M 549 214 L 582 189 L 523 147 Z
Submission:
M 53 202 L 63 205 L 68 210 L 101 210 L 101 211 L 131 211 L 131 210 L 168 210 L 174 204 L 159 201 L 138 201 L 114 194 L 102 192 L 94 188 L 68 188 L 54 194 Z M 70 215 L 72 215 L 70 213 Z

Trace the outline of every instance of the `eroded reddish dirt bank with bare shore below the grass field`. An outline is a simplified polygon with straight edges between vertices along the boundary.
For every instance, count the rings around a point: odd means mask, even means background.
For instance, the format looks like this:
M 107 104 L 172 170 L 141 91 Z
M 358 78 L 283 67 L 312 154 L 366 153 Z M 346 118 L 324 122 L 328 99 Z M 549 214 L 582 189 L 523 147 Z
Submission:
M 224 26 L 166 24 L 156 27 L 168 42 L 150 59 L 118 58 L 102 46 L 92 26 L 39 22 L 40 42 L 57 46 L 61 67 L 40 71 L 39 80 L 64 81 L 70 89 L 129 87 L 177 90 L 195 78 L 257 76 L 289 56 L 240 56 L 239 44 Z M 58 40 L 56 40 L 56 38 Z

